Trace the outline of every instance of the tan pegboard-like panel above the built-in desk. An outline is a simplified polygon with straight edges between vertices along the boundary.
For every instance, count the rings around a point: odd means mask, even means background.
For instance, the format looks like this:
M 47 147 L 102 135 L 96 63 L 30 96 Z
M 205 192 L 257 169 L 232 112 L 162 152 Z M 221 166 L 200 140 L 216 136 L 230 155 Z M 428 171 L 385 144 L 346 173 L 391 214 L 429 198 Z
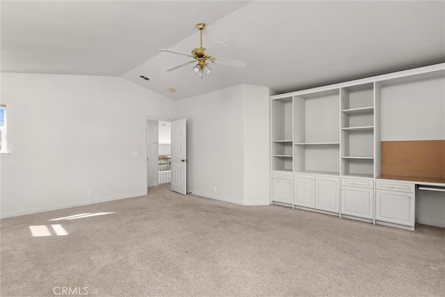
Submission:
M 445 141 L 382 141 L 381 175 L 445 179 Z

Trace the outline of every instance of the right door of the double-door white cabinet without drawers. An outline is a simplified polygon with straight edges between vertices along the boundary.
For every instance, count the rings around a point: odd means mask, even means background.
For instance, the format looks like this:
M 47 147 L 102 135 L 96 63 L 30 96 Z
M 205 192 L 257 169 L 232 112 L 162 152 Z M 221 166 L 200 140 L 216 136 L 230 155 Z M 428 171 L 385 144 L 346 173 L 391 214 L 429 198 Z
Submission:
M 316 177 L 316 209 L 339 212 L 339 184 L 340 179 L 335 177 Z

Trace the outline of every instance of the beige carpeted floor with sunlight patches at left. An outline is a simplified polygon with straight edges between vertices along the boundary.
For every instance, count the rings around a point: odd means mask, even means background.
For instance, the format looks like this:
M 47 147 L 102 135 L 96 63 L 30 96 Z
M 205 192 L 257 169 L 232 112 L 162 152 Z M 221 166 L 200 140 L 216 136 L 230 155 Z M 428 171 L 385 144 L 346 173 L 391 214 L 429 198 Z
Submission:
M 97 214 L 72 220 L 50 220 Z M 57 236 L 51 225 L 68 233 Z M 29 226 L 47 226 L 33 236 Z M 46 227 L 43 227 L 45 230 Z M 1 296 L 444 296 L 444 229 L 415 232 L 167 186 L 1 220 Z M 67 294 L 65 294 L 67 296 Z

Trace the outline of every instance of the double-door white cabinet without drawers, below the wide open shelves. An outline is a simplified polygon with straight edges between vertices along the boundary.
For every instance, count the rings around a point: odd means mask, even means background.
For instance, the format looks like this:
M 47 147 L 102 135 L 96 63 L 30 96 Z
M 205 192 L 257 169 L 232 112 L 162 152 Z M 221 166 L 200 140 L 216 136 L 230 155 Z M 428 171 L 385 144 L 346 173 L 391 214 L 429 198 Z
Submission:
M 293 204 L 299 207 L 339 212 L 339 178 L 293 176 Z

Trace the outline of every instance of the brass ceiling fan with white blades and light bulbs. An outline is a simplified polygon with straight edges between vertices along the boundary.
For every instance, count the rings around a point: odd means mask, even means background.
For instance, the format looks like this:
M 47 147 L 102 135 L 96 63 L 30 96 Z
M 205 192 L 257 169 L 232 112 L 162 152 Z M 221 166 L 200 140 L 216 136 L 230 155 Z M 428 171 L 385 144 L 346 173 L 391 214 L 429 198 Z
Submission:
M 202 47 L 202 30 L 204 30 L 205 26 L 206 24 L 204 23 L 196 24 L 196 28 L 200 30 L 201 43 L 200 47 L 197 47 L 196 49 L 193 49 L 193 51 L 191 51 L 191 54 L 187 54 L 181 51 L 173 51 L 171 49 L 160 49 L 160 51 L 166 51 L 168 53 L 178 54 L 182 56 L 188 56 L 189 58 L 193 58 L 192 61 L 181 63 L 179 65 L 176 65 L 175 67 L 168 68 L 165 71 L 177 70 L 188 64 L 196 63 L 196 65 L 193 67 L 193 72 L 195 72 L 195 74 L 197 75 L 200 75 L 202 79 L 203 74 L 210 74 L 212 71 L 211 67 L 209 67 L 209 62 L 220 65 L 238 67 L 238 68 L 245 67 L 245 62 L 243 61 L 229 60 L 225 58 L 217 58 L 211 56 L 211 54 L 215 54 L 217 51 L 220 51 L 221 49 L 225 48 L 225 44 L 223 42 L 217 41 L 213 43 L 213 45 L 211 45 L 209 48 Z

